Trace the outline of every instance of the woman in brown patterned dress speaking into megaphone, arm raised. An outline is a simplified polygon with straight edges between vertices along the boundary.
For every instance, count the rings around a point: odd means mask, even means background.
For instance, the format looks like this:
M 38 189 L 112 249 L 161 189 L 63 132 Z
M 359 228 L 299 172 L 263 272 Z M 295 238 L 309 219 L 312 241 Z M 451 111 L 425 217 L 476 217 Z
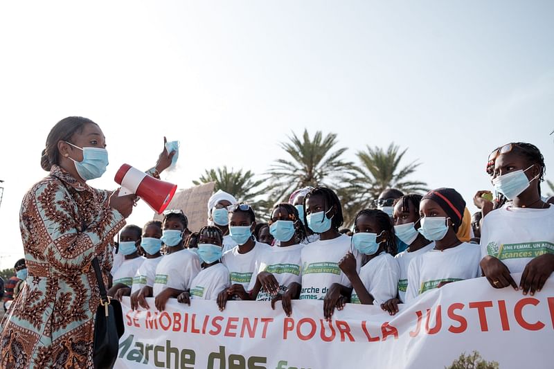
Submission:
M 87 184 L 106 170 L 105 147 L 102 130 L 87 118 L 64 118 L 48 134 L 41 165 L 50 174 L 21 204 L 28 277 L 0 327 L 0 368 L 93 368 L 100 295 L 91 263 L 98 260 L 107 285 L 110 242 L 136 201 Z M 168 168 L 173 154 L 164 147 L 150 174 Z

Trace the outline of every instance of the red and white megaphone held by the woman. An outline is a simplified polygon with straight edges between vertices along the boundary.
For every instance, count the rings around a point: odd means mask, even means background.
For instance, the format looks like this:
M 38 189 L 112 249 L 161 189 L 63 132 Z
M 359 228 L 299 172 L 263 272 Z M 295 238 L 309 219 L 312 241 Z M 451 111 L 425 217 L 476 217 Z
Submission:
M 119 196 L 134 194 L 146 201 L 158 214 L 166 210 L 177 191 L 177 185 L 150 177 L 129 164 L 121 165 L 115 181 L 121 185 Z

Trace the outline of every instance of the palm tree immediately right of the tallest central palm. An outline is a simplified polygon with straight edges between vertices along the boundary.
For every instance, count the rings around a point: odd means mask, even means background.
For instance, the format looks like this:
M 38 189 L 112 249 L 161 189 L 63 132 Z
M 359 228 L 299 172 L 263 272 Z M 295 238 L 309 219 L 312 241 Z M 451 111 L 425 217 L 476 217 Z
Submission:
M 366 205 L 371 199 L 377 199 L 386 188 L 397 188 L 402 192 L 427 191 L 427 183 L 406 180 L 420 166 L 420 163 L 412 161 L 400 167 L 407 150 L 400 152 L 400 146 L 391 143 L 386 151 L 381 147 L 368 146 L 367 151 L 356 153 L 360 166 L 356 169 L 358 178 L 353 183 L 364 188 L 362 195 L 367 199 Z

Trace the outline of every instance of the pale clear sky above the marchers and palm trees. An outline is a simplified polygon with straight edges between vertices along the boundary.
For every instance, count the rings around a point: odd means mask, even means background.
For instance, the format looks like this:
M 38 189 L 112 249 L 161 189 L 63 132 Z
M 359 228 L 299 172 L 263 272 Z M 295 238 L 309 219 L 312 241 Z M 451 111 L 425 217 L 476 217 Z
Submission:
M 262 173 L 290 132 L 408 147 L 413 176 L 472 206 L 492 149 L 535 143 L 554 180 L 553 1 L 2 1 L 0 268 L 23 256 L 19 206 L 58 120 L 80 115 L 122 163 L 166 179 L 204 168 Z M 544 187 L 546 188 L 546 187 Z M 152 217 L 145 204 L 129 219 Z

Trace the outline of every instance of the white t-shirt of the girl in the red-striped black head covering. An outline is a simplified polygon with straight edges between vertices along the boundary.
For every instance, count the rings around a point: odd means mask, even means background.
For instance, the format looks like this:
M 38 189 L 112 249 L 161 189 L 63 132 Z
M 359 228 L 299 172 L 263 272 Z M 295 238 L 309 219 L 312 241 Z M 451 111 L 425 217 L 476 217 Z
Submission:
M 440 282 L 456 282 L 481 276 L 481 250 L 476 244 L 462 242 L 445 251 L 429 250 L 413 258 L 408 267 L 406 302 L 413 300 Z

